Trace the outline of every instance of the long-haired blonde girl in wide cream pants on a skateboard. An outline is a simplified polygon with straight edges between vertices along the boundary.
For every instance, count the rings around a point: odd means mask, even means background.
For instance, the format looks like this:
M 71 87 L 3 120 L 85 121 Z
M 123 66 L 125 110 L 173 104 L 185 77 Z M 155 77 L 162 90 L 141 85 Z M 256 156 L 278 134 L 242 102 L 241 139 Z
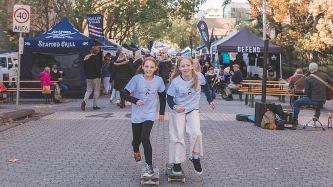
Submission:
M 171 74 L 167 91 L 167 102 L 172 109 L 169 120 L 169 163 L 173 163 L 173 174 L 181 174 L 181 162 L 186 160 L 185 126 L 190 139 L 190 161 L 193 162 L 195 173 L 202 174 L 199 159 L 199 155 L 203 155 L 199 118 L 201 86 L 211 108 L 215 109 L 205 77 L 195 72 L 191 57 L 181 57 Z

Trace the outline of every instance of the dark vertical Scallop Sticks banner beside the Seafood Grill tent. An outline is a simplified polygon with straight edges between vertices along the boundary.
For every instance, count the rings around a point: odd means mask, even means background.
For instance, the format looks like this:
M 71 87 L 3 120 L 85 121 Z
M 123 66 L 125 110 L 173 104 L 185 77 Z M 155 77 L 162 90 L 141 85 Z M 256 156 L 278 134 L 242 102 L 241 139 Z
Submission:
M 87 15 L 89 37 L 96 40 L 104 40 L 103 32 L 103 15 L 89 14 Z

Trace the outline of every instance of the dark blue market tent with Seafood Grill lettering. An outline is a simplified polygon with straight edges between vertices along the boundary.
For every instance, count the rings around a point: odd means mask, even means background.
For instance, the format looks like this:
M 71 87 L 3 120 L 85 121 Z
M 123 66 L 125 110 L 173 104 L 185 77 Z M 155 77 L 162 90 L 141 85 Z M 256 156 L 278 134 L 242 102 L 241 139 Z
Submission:
M 40 80 L 45 67 L 57 65 L 65 72 L 62 83 L 68 87 L 66 96 L 82 97 L 86 91 L 83 58 L 90 53 L 94 40 L 76 30 L 65 17 L 47 32 L 24 38 L 21 80 Z M 40 84 L 22 86 L 40 87 Z M 27 96 L 41 96 L 28 94 Z

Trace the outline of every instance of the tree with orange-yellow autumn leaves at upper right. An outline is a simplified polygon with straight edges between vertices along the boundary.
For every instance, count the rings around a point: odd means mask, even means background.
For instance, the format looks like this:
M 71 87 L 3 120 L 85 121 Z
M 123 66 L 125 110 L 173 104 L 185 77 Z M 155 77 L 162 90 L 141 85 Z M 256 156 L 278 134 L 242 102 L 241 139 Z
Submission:
M 249 3 L 251 15 L 261 17 L 263 1 Z M 272 42 L 308 60 L 327 56 L 333 50 L 332 5 L 332 0 L 267 0 L 267 25 L 278 33 Z

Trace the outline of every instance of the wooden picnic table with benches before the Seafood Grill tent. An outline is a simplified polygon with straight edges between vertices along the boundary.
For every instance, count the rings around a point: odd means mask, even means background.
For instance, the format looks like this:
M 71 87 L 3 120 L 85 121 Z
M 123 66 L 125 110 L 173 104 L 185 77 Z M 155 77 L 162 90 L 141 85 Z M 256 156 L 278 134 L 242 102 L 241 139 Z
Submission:
M 10 82 L 10 81 L 2 81 L 2 82 Z M 20 80 L 19 81 L 19 84 L 20 84 L 20 88 L 19 88 L 19 92 L 40 92 L 42 93 L 42 88 L 41 87 L 21 87 L 21 84 L 22 83 L 28 83 L 28 84 L 39 84 L 40 85 L 40 80 Z M 51 81 L 51 82 L 58 82 L 58 81 Z M 16 93 L 17 91 L 17 88 L 15 87 L 9 87 L 7 88 L 7 92 L 9 93 L 10 97 L 7 97 L 7 100 L 8 101 L 13 101 L 14 100 L 14 97 L 13 97 L 13 93 Z M 54 90 L 51 90 L 51 93 L 54 92 Z M 50 102 L 50 95 L 51 94 L 44 94 L 44 99 L 45 99 L 45 102 L 46 100 L 48 102 Z M 53 98 L 51 98 L 52 100 Z

